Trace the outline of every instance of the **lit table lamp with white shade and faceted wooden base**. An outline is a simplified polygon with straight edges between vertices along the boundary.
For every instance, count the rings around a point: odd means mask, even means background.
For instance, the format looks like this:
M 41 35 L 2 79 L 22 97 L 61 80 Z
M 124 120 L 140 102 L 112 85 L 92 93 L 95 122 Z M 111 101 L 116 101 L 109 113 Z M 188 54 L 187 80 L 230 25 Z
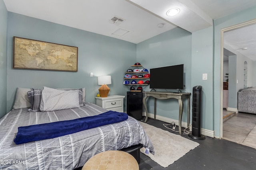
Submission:
M 100 97 L 107 97 L 110 88 L 107 84 L 111 84 L 111 76 L 98 76 L 98 85 L 102 85 L 99 88 Z

